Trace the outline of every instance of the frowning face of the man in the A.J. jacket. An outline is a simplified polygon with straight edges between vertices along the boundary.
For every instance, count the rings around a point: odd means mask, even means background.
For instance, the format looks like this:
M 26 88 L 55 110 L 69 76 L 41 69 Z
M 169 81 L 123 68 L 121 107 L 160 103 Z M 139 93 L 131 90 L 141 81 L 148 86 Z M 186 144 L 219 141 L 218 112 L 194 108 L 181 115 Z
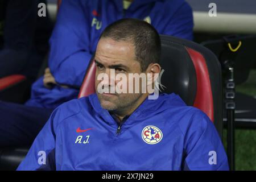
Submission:
M 111 38 L 101 38 L 96 49 L 95 62 L 97 65 L 95 89 L 101 106 L 109 111 L 117 112 L 133 107 L 141 98 L 142 93 L 116 93 L 116 90 L 115 93 L 99 93 L 98 85 L 103 85 L 102 88 L 109 90 L 116 88 L 122 79 L 113 78 L 113 74 L 110 76 L 110 69 L 112 69 L 112 73 L 114 71 L 115 75 L 123 73 L 126 76 L 127 81 L 125 83 L 127 90 L 129 89 L 128 74 L 141 73 L 141 65 L 135 60 L 134 45 L 131 42 L 117 42 Z M 107 75 L 108 78 L 98 80 L 101 73 Z

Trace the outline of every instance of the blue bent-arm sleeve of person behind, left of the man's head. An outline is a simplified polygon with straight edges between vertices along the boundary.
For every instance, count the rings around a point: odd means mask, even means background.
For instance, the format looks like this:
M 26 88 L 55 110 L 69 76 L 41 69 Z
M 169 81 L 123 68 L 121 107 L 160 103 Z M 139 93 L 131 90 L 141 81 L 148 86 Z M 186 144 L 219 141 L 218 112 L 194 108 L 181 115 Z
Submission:
M 89 10 L 86 1 L 62 1 L 50 39 L 49 68 L 61 85 L 80 87 L 90 50 Z

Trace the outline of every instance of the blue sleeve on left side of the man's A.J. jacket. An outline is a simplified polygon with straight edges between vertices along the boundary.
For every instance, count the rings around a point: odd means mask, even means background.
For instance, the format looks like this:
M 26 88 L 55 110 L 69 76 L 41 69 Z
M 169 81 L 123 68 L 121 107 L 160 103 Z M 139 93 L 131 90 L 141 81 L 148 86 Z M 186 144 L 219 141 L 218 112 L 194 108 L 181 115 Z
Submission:
M 20 163 L 18 171 L 50 171 L 56 170 L 55 164 L 55 126 L 57 109 L 40 131 L 32 144 L 26 158 Z

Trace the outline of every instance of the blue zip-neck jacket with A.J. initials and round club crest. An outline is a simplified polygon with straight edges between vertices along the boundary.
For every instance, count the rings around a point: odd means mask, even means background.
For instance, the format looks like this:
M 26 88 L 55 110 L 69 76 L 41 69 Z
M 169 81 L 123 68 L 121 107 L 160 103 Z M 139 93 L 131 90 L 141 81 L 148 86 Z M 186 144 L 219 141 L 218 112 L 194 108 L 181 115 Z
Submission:
M 18 170 L 228 170 L 218 133 L 175 94 L 146 99 L 121 125 L 96 94 L 53 111 Z

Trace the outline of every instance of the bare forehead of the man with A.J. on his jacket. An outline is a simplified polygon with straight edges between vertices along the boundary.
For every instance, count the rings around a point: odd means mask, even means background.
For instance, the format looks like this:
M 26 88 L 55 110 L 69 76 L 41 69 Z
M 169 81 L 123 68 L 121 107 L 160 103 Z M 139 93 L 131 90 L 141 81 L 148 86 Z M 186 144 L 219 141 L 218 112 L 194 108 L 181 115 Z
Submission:
M 135 48 L 129 41 L 101 38 L 96 49 L 96 59 L 105 63 L 120 63 L 135 60 Z

